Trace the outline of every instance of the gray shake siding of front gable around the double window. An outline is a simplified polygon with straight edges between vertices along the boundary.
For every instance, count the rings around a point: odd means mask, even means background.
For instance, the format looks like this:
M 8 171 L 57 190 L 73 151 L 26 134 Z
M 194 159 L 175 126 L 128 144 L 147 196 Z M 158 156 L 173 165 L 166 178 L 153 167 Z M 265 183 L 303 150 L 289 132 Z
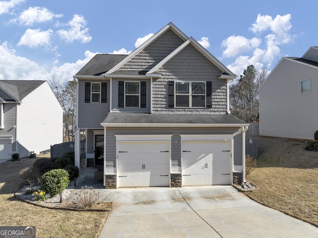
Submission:
M 153 81 L 154 113 L 226 113 L 227 80 L 218 79 L 222 72 L 192 45 L 187 46 L 163 65 L 160 79 Z M 212 81 L 212 108 L 169 108 L 168 81 Z

